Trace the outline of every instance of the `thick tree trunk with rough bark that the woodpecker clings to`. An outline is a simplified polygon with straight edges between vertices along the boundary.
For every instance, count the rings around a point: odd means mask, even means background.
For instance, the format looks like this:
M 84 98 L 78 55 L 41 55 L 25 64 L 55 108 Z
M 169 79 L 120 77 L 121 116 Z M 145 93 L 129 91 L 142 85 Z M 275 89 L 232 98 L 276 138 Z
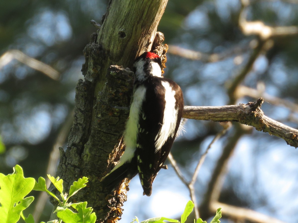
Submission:
M 87 201 L 98 222 L 116 222 L 126 200 L 127 184 L 113 195 L 100 186 L 107 166 L 111 168 L 108 161 L 116 158 L 109 154 L 122 148 L 128 117 L 128 111 L 119 107 L 129 106 L 133 72 L 123 67 L 131 68 L 137 56 L 162 41 L 161 34 L 156 38 L 156 29 L 166 4 L 167 0 L 109 1 L 102 26 L 84 49 L 84 80 L 77 83 L 74 122 L 66 151 L 60 148 L 56 175 L 64 180 L 66 189 L 82 176 L 89 178 L 74 201 Z

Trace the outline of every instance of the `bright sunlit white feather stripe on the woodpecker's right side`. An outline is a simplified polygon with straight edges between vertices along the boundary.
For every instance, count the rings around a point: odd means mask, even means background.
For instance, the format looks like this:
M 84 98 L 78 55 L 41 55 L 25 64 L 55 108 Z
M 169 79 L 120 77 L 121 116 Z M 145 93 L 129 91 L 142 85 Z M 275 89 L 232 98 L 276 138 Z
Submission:
M 157 136 L 155 137 L 155 152 L 162 148 L 169 136 L 174 136 L 178 115 L 178 109 L 175 109 L 176 92 L 172 89 L 167 81 L 162 81 L 162 86 L 165 88 L 165 109 L 162 121 L 162 128 L 159 130 Z

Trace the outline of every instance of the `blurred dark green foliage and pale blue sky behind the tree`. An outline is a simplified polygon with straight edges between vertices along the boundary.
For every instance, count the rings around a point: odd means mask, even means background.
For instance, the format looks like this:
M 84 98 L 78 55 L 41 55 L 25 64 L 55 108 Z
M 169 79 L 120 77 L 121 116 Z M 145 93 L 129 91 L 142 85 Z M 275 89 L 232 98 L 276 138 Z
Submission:
M 0 2 L 0 134 L 5 145 L 5 150 L 3 146 L 0 149 L 0 172 L 11 173 L 12 167 L 20 164 L 26 177 L 45 177 L 50 153 L 53 147 L 58 150 L 55 147 L 58 136 L 69 131 L 65 123 L 69 123 L 68 117 L 72 115 L 75 84 L 83 78 L 82 51 L 90 35 L 96 32 L 89 21 L 100 22 L 106 6 L 106 0 Z M 164 33 L 169 45 L 165 76 L 181 86 L 185 105 L 229 104 L 227 86 L 246 64 L 258 40 L 239 28 L 240 12 L 239 0 L 169 0 L 158 31 Z M 252 1 L 246 19 L 273 27 L 298 26 L 298 3 Z M 189 59 L 177 55 L 182 49 L 200 52 L 201 57 Z M 28 66 L 30 59 L 25 58 L 25 62 L 13 59 L 19 51 L 50 65 L 58 71 L 59 78 Z M 258 89 L 265 99 L 262 109 L 268 117 L 293 128 L 298 128 L 297 52 L 297 34 L 272 38 L 270 47 L 260 53 L 241 83 Z M 256 101 L 249 95 L 249 91 L 242 94 L 236 103 Z M 264 95 L 280 98 L 283 103 L 268 102 Z M 222 126 L 187 120 L 185 129 L 172 153 L 184 177 L 190 180 L 201 154 Z M 231 128 L 207 154 L 195 183 L 199 203 L 223 147 L 234 132 Z M 60 142 L 64 148 L 66 141 Z M 229 160 L 220 201 L 284 222 L 298 222 L 297 158 L 297 150 L 282 139 L 251 129 L 250 134 L 238 140 Z M 120 222 L 131 222 L 134 216 L 142 220 L 161 215 L 178 217 L 187 200 L 189 191 L 169 166 L 167 171 L 160 171 L 149 198 L 142 196 L 138 179 L 131 181 Z M 50 211 L 47 202 L 40 220 L 46 221 Z

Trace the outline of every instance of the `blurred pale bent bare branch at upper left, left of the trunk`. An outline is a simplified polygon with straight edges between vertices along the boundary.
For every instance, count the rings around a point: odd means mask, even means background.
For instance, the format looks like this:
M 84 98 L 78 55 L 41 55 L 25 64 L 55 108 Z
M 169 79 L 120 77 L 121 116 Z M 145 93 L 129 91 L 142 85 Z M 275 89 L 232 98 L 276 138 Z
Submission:
M 54 80 L 59 79 L 59 72 L 57 70 L 37 59 L 27 56 L 19 50 L 9 50 L 2 54 L 0 57 L 0 69 L 10 63 L 13 59 L 17 59 L 28 67 L 38 70 Z

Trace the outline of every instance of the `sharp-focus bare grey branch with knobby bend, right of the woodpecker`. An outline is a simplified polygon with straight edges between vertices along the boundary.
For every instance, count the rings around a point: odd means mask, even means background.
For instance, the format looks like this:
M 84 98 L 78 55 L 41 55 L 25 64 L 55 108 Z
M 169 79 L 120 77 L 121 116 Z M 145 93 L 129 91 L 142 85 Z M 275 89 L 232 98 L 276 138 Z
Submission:
M 232 121 L 254 126 L 258 131 L 268 132 L 284 139 L 288 145 L 298 147 L 298 130 L 277 122 L 264 115 L 260 109 L 263 98 L 256 103 L 227 106 L 184 106 L 184 118 L 212 120 L 215 122 Z

